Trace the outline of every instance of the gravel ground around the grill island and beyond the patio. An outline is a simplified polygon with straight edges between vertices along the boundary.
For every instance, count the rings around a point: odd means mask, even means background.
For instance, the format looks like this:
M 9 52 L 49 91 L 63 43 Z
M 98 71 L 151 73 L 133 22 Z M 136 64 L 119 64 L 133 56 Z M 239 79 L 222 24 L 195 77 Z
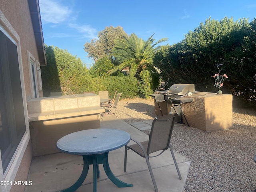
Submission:
M 118 111 L 125 122 L 155 117 L 154 99 L 124 99 Z M 146 131 L 146 134 L 149 132 Z M 256 111 L 233 109 L 233 128 L 205 132 L 176 126 L 172 148 L 191 160 L 184 192 L 252 192 L 256 189 Z

